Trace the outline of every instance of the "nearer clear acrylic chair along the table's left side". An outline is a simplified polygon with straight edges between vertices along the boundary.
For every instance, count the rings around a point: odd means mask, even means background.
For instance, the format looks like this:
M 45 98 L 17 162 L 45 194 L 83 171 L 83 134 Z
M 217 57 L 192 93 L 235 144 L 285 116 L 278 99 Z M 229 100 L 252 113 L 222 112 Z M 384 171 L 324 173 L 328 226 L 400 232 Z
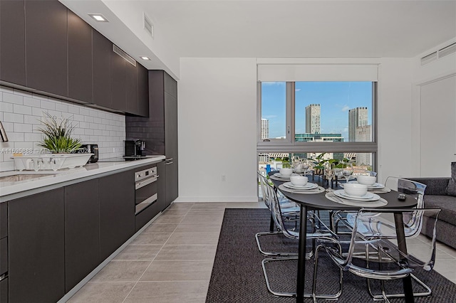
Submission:
M 277 196 L 276 191 L 274 191 L 274 188 L 267 184 L 266 186 L 266 191 L 269 191 L 269 195 L 271 198 L 271 214 L 272 218 L 274 220 L 274 224 L 276 227 L 281 230 L 281 233 L 286 237 L 290 239 L 299 239 L 299 230 L 294 230 L 294 229 L 289 229 L 287 228 L 285 221 L 284 221 L 284 212 L 281 209 L 281 203 L 279 203 L 279 198 Z M 312 233 L 307 233 L 306 238 L 308 240 L 312 240 L 312 250 L 311 252 L 306 254 L 306 259 L 310 259 L 312 255 L 314 255 L 314 246 L 315 246 L 315 240 L 317 238 L 321 237 L 326 237 L 326 238 L 331 238 L 334 235 L 332 231 L 326 226 L 325 223 L 323 223 L 318 216 L 316 216 L 316 213 L 311 213 L 312 220 L 308 220 L 312 223 Z M 318 224 L 316 224 L 318 223 Z M 316 229 L 318 228 L 318 229 Z M 288 255 L 281 255 L 278 257 L 267 257 L 261 262 L 261 266 L 263 268 L 263 274 L 264 274 L 264 279 L 266 280 L 266 287 L 268 291 L 271 294 L 274 294 L 275 296 L 279 297 L 296 297 L 296 293 L 294 292 L 278 292 L 273 289 L 271 289 L 271 284 L 269 282 L 269 277 L 267 274 L 266 270 L 266 264 L 268 262 L 276 262 L 276 261 L 286 261 L 286 260 L 297 260 L 298 255 L 296 253 L 294 254 L 288 254 Z M 318 298 L 325 298 L 325 299 L 336 299 L 337 297 L 340 296 L 342 292 L 342 289 L 339 289 L 339 291 L 336 294 L 318 294 L 316 297 Z M 312 297 L 312 294 L 305 294 L 305 297 Z

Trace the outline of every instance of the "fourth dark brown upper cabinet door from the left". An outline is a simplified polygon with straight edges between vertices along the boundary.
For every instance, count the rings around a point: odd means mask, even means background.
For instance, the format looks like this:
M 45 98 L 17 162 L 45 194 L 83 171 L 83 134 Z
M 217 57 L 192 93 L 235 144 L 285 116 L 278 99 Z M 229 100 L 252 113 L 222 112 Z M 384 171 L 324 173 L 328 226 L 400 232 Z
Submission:
M 111 92 L 111 58 L 113 43 L 95 29 L 92 30 L 93 50 L 93 104 L 110 108 Z

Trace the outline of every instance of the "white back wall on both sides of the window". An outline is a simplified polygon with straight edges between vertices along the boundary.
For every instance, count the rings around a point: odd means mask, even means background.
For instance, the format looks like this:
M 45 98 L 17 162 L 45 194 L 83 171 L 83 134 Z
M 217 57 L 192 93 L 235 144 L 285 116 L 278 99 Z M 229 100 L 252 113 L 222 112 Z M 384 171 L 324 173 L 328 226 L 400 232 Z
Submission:
M 380 64 L 379 179 L 411 176 L 413 60 L 369 61 Z M 180 68 L 177 201 L 257 201 L 255 58 L 182 58 Z

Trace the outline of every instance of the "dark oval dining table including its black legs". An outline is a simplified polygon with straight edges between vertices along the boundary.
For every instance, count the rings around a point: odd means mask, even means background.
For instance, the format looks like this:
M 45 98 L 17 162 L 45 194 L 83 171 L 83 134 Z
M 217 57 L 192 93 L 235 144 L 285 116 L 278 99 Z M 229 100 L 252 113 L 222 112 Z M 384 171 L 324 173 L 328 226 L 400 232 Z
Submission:
M 405 199 L 398 199 L 398 191 L 381 192 L 377 191 L 376 194 L 380 196 L 380 200 L 386 203 L 377 204 L 378 206 L 372 206 L 372 203 L 366 205 L 366 203 L 351 203 L 346 205 L 338 203 L 326 198 L 326 191 L 323 188 L 333 187 L 333 190 L 341 189 L 341 181 L 328 182 L 321 176 L 309 176 L 309 182 L 318 184 L 321 191 L 316 191 L 311 194 L 304 194 L 302 191 L 284 191 L 283 184 L 289 181 L 289 178 L 277 177 L 278 171 L 270 171 L 268 173 L 269 179 L 274 188 L 279 191 L 289 200 L 299 204 L 301 208 L 301 214 L 307 213 L 308 211 L 359 211 L 361 208 L 414 208 L 417 206 L 417 200 L 413 196 L 405 195 Z M 330 186 L 331 184 L 331 186 Z M 337 184 L 337 185 L 336 185 Z M 345 199 L 344 199 L 345 200 Z M 403 216 L 402 213 L 394 213 L 395 227 L 398 235 L 398 248 L 406 252 L 405 246 L 405 233 L 403 229 Z M 306 276 L 306 235 L 307 235 L 307 216 L 301 215 L 299 221 L 299 248 L 298 248 L 298 269 L 297 269 L 297 280 L 296 280 L 296 302 L 304 302 L 304 281 Z M 405 302 L 414 302 L 413 289 L 412 289 L 412 278 L 410 276 L 403 278 L 403 287 L 405 294 Z

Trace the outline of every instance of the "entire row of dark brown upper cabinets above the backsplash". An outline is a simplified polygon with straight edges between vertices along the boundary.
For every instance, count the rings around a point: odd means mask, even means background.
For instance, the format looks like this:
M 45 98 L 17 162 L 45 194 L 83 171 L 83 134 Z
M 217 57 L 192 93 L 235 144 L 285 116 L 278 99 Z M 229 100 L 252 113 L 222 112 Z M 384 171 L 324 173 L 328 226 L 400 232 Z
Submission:
M 57 0 L 0 1 L 0 81 L 147 117 L 147 69 Z

